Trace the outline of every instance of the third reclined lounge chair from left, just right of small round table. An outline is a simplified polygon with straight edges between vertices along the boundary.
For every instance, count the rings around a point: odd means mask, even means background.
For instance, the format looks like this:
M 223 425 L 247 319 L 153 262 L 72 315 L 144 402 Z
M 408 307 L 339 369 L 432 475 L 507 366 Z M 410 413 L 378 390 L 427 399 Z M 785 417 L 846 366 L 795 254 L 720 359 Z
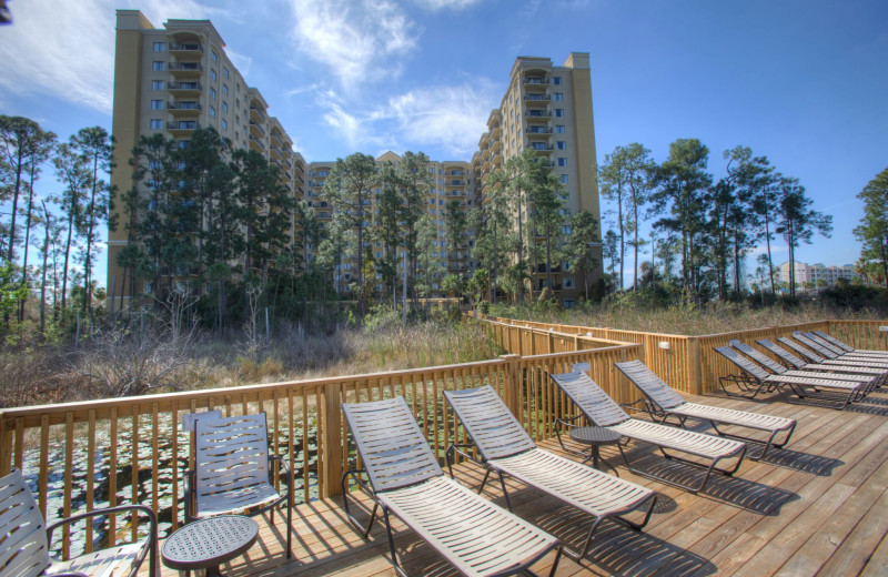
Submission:
M 619 447 L 619 453 L 626 467 L 636 475 L 649 477 L 690 493 L 697 493 L 706 487 L 706 483 L 714 470 L 730 476 L 740 468 L 743 458 L 746 455 L 746 443 L 633 418 L 586 374 L 565 373 L 549 374 L 549 376 L 593 425 L 619 433 L 628 439 L 655 445 L 667 459 L 680 460 L 706 469 L 706 475 L 697 486 L 669 480 L 633 467 L 629 464 L 626 452 L 623 449 L 623 444 L 618 443 L 617 447 Z M 694 455 L 708 460 L 709 464 L 678 457 L 667 453 L 666 449 Z M 731 458 L 737 459 L 734 467 L 729 469 L 717 467 L 719 462 Z

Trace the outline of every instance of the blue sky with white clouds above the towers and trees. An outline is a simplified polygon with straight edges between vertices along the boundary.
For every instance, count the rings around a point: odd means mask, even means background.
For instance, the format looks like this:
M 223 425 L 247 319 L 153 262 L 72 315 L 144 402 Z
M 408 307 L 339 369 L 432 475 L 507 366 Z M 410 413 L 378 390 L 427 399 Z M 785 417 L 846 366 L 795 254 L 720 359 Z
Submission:
M 663 162 L 697 138 L 709 171 L 738 144 L 799 179 L 834 217 L 797 261 L 854 263 L 856 194 L 888 166 L 882 0 L 9 0 L 0 113 L 62 139 L 111 129 L 115 9 L 209 19 L 299 152 L 470 160 L 515 58 L 588 52 L 598 162 L 640 142 Z M 38 184 L 58 192 L 51 170 Z M 606 207 L 606 206 L 605 206 Z M 9 210 L 0 209 L 8 213 Z M 605 226 L 608 217 L 604 217 Z M 756 249 L 755 252 L 760 252 Z M 773 245 L 784 262 L 781 240 Z M 750 269 L 753 266 L 750 265 Z M 105 263 L 97 276 L 104 282 Z

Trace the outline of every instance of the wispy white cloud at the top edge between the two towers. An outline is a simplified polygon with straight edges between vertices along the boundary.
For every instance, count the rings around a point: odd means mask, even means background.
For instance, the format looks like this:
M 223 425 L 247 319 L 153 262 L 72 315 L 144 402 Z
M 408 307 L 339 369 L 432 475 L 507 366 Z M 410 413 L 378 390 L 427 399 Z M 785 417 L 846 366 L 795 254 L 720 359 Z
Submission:
M 415 24 L 387 0 L 291 0 L 293 41 L 309 58 L 330 67 L 346 91 L 397 77 L 398 59 L 416 45 Z

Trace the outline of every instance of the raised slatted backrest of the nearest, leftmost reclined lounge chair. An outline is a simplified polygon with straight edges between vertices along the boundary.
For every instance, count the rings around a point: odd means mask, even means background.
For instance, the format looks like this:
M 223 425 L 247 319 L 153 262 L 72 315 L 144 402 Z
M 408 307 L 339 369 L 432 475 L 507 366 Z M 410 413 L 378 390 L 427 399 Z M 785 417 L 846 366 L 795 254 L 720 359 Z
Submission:
M 343 403 L 342 412 L 376 493 L 444 474 L 404 397 Z

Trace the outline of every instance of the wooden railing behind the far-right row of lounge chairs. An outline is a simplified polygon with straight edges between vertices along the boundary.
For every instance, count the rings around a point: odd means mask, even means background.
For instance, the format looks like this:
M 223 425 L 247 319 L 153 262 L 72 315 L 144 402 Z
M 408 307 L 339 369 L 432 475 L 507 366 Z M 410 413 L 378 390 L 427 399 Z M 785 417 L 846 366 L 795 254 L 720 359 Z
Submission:
M 673 388 L 689 394 L 712 393 L 719 388 L 718 378 L 736 374 L 737 368 L 713 348 L 738 340 L 773 356 L 755 342 L 791 336 L 794 331 L 824 331 L 856 348 L 886 350 L 888 333 L 879 331 L 888 321 L 815 321 L 786 326 L 770 326 L 710 335 L 674 335 L 596 328 L 556 323 L 535 323 L 477 315 L 507 351 L 527 354 L 528 346 L 543 352 L 574 351 L 572 346 L 593 347 L 597 342 L 638 343 L 639 358 Z M 546 335 L 548 335 L 546 337 Z M 531 345 L 528 345 L 531 343 Z M 515 348 L 517 347 L 517 348 Z M 533 350 L 532 350 L 533 352 Z

